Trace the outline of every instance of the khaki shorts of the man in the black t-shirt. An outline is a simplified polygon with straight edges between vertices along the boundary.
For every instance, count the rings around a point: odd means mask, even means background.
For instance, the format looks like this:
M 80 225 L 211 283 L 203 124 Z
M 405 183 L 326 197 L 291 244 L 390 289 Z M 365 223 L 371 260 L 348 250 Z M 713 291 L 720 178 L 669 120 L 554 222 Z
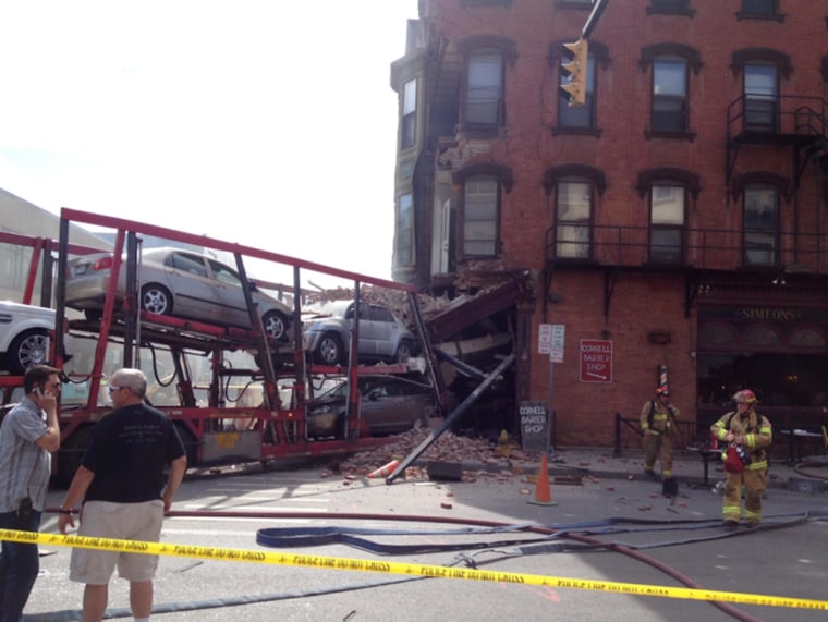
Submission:
M 157 542 L 161 537 L 163 501 L 112 503 L 87 501 L 81 514 L 78 536 Z M 69 578 L 89 585 L 106 585 L 118 565 L 126 581 L 151 581 L 158 556 L 121 553 L 98 549 L 72 549 Z

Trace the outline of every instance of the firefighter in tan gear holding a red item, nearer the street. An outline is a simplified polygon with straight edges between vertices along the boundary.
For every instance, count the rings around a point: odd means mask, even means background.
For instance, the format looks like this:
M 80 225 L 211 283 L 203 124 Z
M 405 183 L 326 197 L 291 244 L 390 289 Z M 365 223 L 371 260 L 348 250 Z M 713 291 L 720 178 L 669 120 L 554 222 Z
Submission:
M 726 413 L 710 431 L 727 443 L 724 461 L 724 527 L 735 529 L 741 519 L 742 486 L 745 489 L 744 520 L 748 527 L 762 522 L 762 495 L 768 486 L 767 448 L 772 440 L 770 422 L 756 412 L 756 394 L 738 391 L 732 400 L 736 410 Z

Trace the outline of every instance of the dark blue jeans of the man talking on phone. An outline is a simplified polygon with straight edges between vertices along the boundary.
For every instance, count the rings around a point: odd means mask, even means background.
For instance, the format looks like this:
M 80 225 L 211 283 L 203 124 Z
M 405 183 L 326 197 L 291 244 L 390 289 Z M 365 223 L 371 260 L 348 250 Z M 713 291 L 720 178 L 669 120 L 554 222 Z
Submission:
M 27 524 L 20 524 L 16 512 L 0 513 L 0 528 L 37 532 L 40 512 L 33 511 Z M 40 570 L 37 545 L 3 540 L 0 552 L 0 622 L 19 622 Z

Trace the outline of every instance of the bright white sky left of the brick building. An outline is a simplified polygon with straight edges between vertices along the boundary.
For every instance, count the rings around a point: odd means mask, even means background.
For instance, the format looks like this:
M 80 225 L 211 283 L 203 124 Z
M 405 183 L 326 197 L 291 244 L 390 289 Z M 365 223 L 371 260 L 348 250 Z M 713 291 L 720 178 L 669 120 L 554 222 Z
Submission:
M 417 0 L 4 2 L 0 187 L 390 279 L 390 64 L 416 17 Z

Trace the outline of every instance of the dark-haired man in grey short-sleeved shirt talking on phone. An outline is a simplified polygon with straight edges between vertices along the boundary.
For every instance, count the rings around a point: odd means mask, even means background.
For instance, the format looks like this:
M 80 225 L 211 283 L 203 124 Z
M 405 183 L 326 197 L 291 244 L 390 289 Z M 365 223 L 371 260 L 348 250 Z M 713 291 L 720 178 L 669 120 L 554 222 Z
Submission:
M 60 447 L 60 371 L 29 367 L 26 395 L 0 426 L 0 528 L 37 532 L 51 476 L 51 454 Z M 0 552 L 0 622 L 17 622 L 40 570 L 37 545 L 3 540 Z

